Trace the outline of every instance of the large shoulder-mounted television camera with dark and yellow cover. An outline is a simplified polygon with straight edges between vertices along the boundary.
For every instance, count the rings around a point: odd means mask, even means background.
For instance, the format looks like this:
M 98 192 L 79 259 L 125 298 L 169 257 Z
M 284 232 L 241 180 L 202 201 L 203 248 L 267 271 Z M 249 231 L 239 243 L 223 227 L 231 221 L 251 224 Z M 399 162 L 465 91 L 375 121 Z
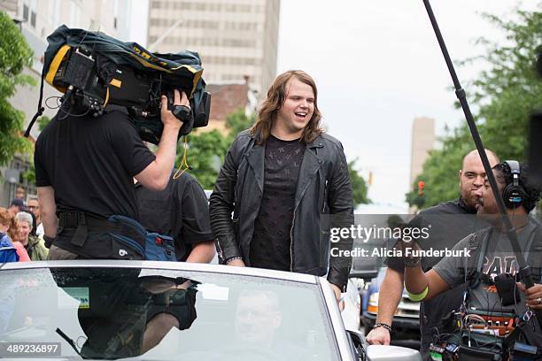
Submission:
M 65 26 L 47 40 L 42 81 L 64 93 L 65 112 L 76 109 L 78 115 L 97 117 L 108 105 L 120 105 L 128 110 L 143 141 L 158 144 L 163 130 L 161 96 L 168 97 L 168 108 L 173 110 L 174 89 L 179 89 L 190 100 L 179 136 L 207 125 L 211 95 L 204 90 L 197 53 L 152 54 L 134 42 Z M 35 119 L 43 112 L 41 102 L 40 98 Z

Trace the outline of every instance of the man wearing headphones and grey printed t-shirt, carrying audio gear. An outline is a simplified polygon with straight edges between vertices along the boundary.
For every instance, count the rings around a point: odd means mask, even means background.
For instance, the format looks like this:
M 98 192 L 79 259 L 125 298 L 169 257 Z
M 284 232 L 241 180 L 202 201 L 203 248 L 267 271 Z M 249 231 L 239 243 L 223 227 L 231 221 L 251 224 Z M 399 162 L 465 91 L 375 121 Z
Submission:
M 405 286 L 411 298 L 428 300 L 447 289 L 468 284 L 468 301 L 465 304 L 468 311 L 474 309 L 483 315 L 486 311 L 487 315 L 491 315 L 513 310 L 515 315 L 521 317 L 526 315 L 527 307 L 530 310 L 542 309 L 542 257 L 539 254 L 542 227 L 529 216 L 538 203 L 540 189 L 531 184 L 528 172 L 527 165 L 520 165 L 517 161 L 507 161 L 493 167 L 498 193 L 504 198 L 520 247 L 527 264 L 531 266 L 535 286 L 525 289 L 517 284 L 517 288 L 523 292 L 517 292 L 515 288 L 518 271 L 515 253 L 499 215 L 492 188 L 486 180 L 484 187 L 477 192 L 476 214 L 488 221 L 491 227 L 469 234 L 455 245 L 453 250 L 463 250 L 464 257 L 445 257 L 430 271 L 423 273 L 420 257 L 415 257 L 413 251 L 410 255 L 407 252 L 409 248 L 417 250 L 419 247 L 415 243 L 402 242 L 406 265 Z M 509 294 L 501 292 L 504 288 L 500 288 L 500 280 L 511 282 Z M 444 314 L 442 316 L 445 317 Z M 522 331 L 523 342 L 535 346 L 537 357 L 542 356 L 542 333 L 536 319 L 530 318 Z

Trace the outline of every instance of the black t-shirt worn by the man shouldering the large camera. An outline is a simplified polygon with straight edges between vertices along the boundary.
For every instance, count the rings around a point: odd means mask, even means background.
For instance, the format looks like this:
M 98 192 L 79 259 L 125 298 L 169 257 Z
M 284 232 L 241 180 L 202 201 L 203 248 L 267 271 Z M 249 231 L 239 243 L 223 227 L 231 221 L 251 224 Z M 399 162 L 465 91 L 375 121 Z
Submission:
M 132 177 L 154 158 L 127 112 L 94 118 L 60 111 L 35 143 L 35 183 L 54 188 L 57 212 L 139 219 Z

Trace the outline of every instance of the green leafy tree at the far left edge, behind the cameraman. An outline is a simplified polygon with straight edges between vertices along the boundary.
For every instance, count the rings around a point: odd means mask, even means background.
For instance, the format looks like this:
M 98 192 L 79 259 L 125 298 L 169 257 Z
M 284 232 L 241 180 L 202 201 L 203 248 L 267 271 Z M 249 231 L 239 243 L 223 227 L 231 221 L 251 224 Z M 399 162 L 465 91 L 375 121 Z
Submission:
M 5 12 L 0 12 L 0 34 L 0 165 L 6 165 L 15 153 L 30 147 L 21 136 L 24 113 L 14 109 L 9 98 L 17 86 L 35 82 L 29 75 L 22 74 L 25 66 L 32 65 L 32 50 Z

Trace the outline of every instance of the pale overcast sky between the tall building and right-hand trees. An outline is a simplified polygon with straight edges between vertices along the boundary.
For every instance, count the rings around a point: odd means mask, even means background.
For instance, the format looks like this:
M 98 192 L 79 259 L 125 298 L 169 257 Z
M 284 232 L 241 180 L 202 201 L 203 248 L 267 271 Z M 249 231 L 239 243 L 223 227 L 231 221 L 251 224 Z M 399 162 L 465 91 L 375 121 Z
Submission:
M 145 10 L 138 9 L 145 4 L 135 5 L 133 22 L 141 33 L 134 34 L 136 41 L 146 30 Z M 480 12 L 506 18 L 517 4 L 431 3 L 454 60 L 484 54 L 475 44 L 480 36 L 503 41 Z M 540 9 L 539 0 L 521 4 Z M 482 67 L 456 67 L 467 91 L 468 80 Z M 346 157 L 359 158 L 364 176 L 373 173 L 369 197 L 376 203 L 405 205 L 415 117 L 436 119 L 439 134 L 463 119 L 461 110 L 453 108 L 452 81 L 421 0 L 282 0 L 277 72 L 294 68 L 316 80 L 325 126 L 343 142 Z

